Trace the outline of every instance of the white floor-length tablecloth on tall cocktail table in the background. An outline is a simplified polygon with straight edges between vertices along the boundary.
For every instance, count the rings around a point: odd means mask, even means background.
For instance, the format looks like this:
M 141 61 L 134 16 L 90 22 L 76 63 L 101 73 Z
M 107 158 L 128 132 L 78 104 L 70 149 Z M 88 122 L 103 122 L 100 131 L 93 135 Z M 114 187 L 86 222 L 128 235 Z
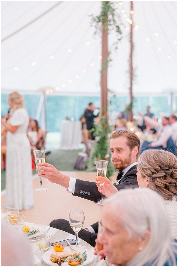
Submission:
M 81 121 L 62 121 L 61 146 L 62 150 L 78 150 L 82 141 Z

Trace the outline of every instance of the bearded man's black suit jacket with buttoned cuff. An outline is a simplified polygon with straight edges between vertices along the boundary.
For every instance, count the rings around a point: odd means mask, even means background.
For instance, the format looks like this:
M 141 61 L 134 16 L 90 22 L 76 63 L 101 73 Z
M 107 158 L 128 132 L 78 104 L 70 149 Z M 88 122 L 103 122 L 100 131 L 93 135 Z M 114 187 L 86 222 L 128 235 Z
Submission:
M 117 190 L 123 189 L 125 187 L 128 188 L 130 186 L 138 187 L 139 185 L 137 182 L 136 172 L 136 166 L 133 166 L 121 179 L 120 184 L 115 185 Z M 79 179 L 76 179 L 76 186 L 73 195 L 89 199 L 94 202 L 100 201 L 101 196 L 96 183 Z M 104 195 L 103 198 L 105 198 Z

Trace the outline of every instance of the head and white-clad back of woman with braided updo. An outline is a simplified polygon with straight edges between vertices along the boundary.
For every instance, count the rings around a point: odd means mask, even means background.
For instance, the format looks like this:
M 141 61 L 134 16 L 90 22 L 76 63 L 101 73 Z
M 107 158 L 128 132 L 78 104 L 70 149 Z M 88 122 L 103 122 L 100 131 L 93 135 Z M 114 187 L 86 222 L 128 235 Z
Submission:
M 177 239 L 176 156 L 161 149 L 145 150 L 138 159 L 137 181 L 139 187 L 151 188 L 164 198 L 171 218 L 172 237 Z

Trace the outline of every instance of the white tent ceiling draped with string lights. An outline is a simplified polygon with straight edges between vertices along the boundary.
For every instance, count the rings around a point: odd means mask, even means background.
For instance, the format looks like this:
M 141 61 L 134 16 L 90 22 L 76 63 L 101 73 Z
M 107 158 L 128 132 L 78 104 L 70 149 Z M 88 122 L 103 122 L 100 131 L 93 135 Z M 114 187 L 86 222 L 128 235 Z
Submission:
M 108 69 L 116 95 L 129 93 L 130 1 L 120 3 L 122 40 Z M 1 1 L 1 90 L 99 95 L 101 36 L 89 15 L 100 10 L 101 1 Z M 133 11 L 133 95 L 176 92 L 177 1 L 133 1 Z M 115 40 L 110 33 L 109 47 Z

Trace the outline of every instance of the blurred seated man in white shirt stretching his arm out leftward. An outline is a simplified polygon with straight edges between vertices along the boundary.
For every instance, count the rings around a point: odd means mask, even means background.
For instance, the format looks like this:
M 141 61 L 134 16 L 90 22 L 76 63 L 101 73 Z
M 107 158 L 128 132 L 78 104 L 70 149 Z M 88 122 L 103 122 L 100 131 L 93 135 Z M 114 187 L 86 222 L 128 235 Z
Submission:
M 159 129 L 156 141 L 154 142 L 144 141 L 140 153 L 142 153 L 145 149 L 150 149 L 150 148 L 166 149 L 168 140 L 172 135 L 172 129 L 169 126 L 169 119 L 167 117 L 163 117 L 162 123 L 160 124 L 159 122 L 149 118 L 148 116 L 143 115 L 140 112 L 138 112 L 138 114 L 142 116 L 144 120 L 147 121 L 150 125 Z

